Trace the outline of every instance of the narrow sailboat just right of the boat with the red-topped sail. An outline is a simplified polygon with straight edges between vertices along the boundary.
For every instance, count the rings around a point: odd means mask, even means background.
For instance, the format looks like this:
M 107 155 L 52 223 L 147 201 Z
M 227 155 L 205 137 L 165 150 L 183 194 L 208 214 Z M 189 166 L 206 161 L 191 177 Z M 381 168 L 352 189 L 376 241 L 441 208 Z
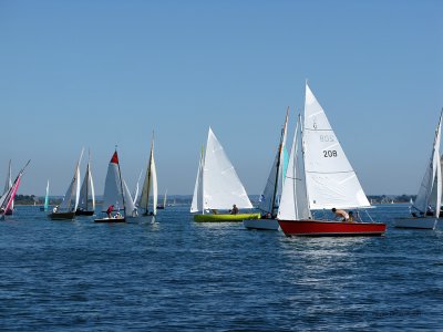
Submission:
M 150 209 L 151 189 L 152 189 L 152 207 Z M 157 196 L 158 196 L 157 170 L 155 168 L 154 135 L 153 135 L 151 142 L 150 162 L 147 164 L 145 180 L 142 187 L 142 195 L 138 201 L 138 209 L 141 209 L 141 215 L 143 217 L 157 215 Z

